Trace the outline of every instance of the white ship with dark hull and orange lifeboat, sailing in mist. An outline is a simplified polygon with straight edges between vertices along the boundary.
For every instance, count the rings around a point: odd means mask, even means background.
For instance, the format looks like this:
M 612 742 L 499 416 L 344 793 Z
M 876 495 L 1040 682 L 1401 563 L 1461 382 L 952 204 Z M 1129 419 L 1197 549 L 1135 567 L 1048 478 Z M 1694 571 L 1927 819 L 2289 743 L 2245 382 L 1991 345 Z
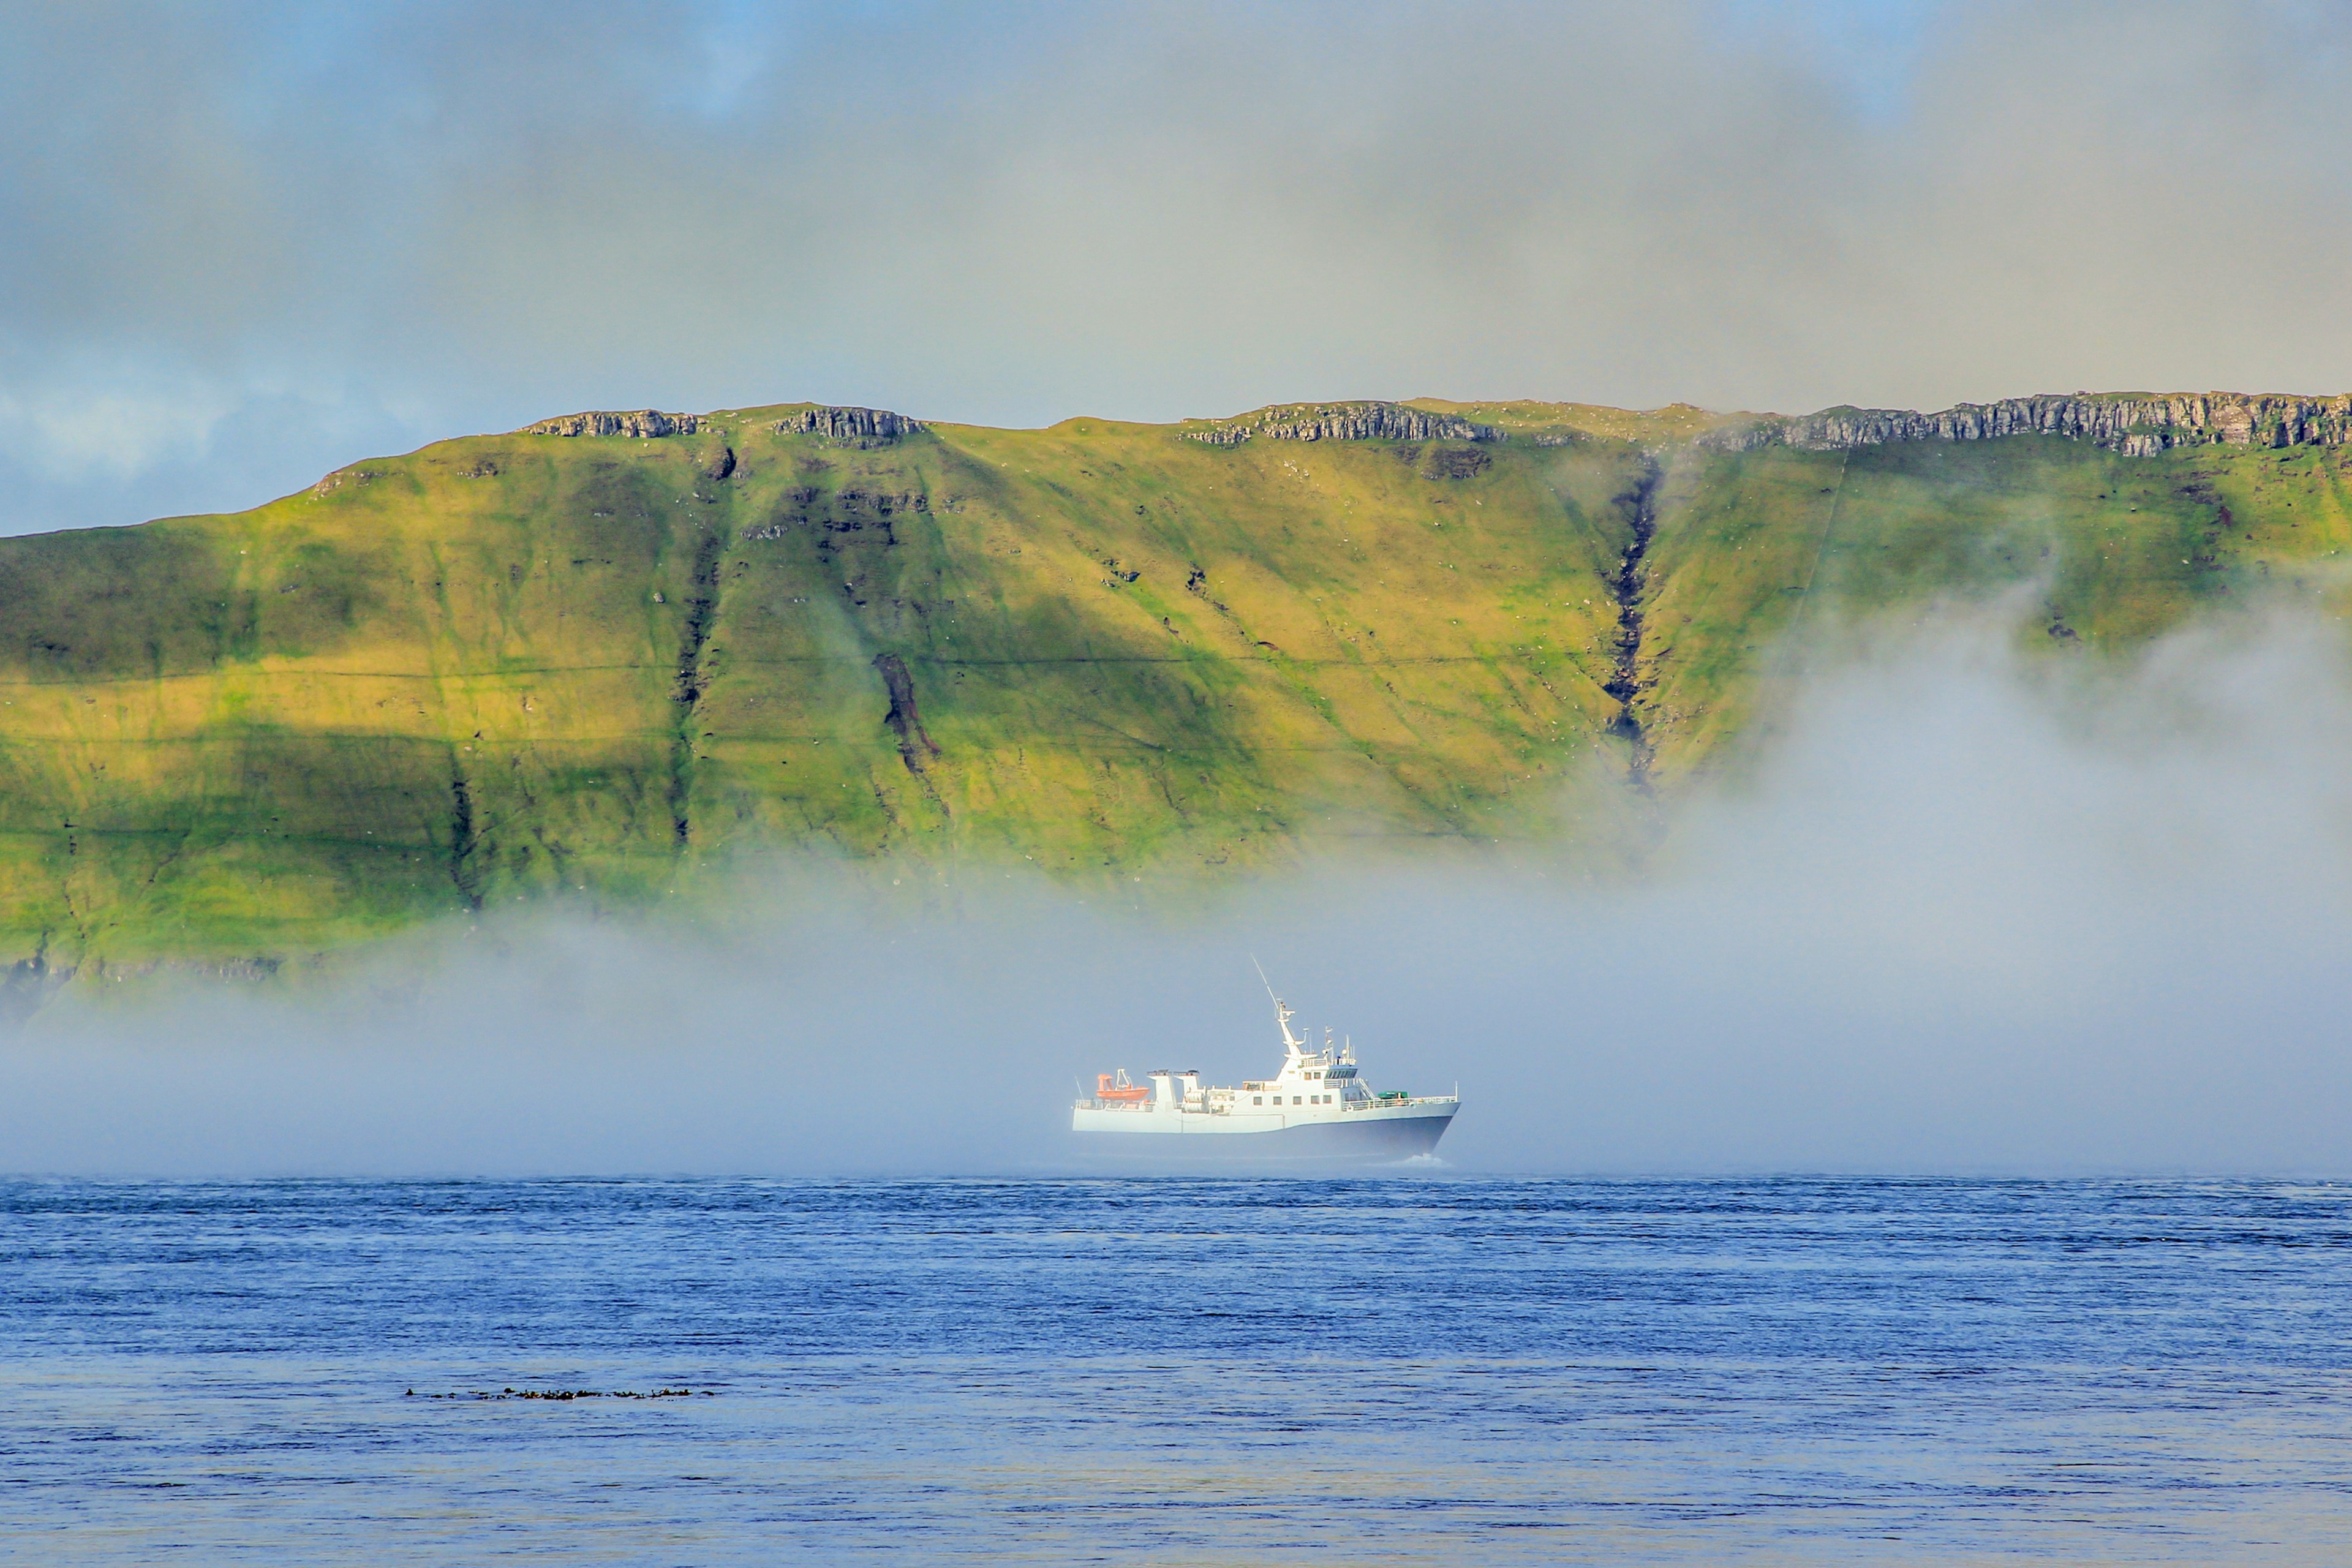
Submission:
M 1454 1124 L 1458 1095 L 1376 1093 L 1357 1072 L 1355 1046 L 1319 1051 L 1291 1034 L 1291 1009 L 1275 997 L 1282 1072 L 1237 1088 L 1202 1088 L 1200 1072 L 1096 1077 L 1091 1098 L 1070 1110 L 1070 1131 L 1094 1152 L 1136 1159 L 1312 1159 L 1395 1161 L 1428 1154 Z

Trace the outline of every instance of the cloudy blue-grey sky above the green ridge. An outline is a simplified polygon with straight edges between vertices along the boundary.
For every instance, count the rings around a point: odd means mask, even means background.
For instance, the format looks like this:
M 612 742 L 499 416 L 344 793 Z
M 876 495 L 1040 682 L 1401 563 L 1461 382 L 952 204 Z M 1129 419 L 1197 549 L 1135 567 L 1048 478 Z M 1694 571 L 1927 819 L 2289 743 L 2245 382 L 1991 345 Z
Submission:
M 2352 5 L 0 2 L 0 531 L 583 407 L 2345 390 Z

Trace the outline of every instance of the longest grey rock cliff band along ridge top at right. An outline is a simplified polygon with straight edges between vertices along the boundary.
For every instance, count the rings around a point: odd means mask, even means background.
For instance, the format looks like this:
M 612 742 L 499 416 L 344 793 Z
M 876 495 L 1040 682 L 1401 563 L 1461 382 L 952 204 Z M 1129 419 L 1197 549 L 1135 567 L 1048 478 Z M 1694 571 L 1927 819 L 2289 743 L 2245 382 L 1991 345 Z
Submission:
M 2343 447 L 2352 442 L 2352 397 L 2249 397 L 2166 393 L 2110 397 L 2006 397 L 1964 402 L 1943 414 L 1910 409 L 1823 409 L 1710 430 L 1700 447 L 1755 451 L 1802 447 L 1844 451 L 1886 442 L 1990 442 L 2002 435 L 2063 435 L 2110 451 L 2147 456 L 2169 447 Z

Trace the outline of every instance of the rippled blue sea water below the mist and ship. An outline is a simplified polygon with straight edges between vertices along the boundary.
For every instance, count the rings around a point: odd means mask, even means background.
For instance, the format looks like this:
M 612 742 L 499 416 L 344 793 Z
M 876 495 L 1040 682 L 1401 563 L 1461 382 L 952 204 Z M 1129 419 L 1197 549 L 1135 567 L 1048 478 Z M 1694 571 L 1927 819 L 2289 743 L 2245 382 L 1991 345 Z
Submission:
M 2352 1563 L 2352 1187 L 0 1182 L 0 1561 Z

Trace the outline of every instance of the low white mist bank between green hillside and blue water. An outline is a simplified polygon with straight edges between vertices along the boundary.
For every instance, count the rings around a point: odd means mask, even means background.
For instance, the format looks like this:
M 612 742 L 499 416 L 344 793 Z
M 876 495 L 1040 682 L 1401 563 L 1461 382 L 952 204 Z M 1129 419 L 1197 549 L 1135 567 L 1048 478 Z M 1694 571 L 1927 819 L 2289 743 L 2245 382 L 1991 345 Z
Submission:
M 2340 632 L 2124 663 L 1997 621 L 1856 649 L 1630 870 L 1517 844 L 1221 893 L 748 872 L 296 990 L 68 990 L 0 1044 L 56 1173 L 1040 1173 L 1110 1067 L 1277 1060 L 1261 959 L 1461 1171 L 2352 1168 Z M 884 879 L 887 882 L 887 879 Z

